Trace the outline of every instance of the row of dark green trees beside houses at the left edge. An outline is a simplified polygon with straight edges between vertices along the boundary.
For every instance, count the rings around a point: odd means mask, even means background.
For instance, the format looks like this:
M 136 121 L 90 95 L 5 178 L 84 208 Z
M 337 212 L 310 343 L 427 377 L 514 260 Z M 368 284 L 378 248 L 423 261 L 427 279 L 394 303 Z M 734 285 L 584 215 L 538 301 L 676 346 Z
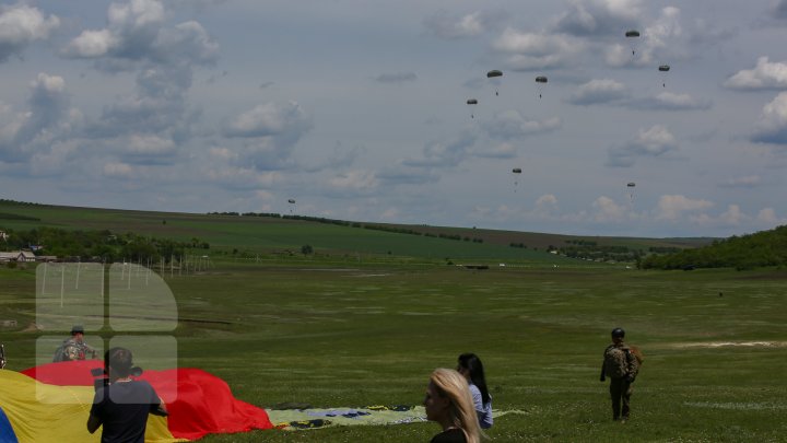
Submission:
M 165 261 L 180 257 L 186 249 L 208 249 L 210 244 L 199 238 L 176 242 L 138 235 L 132 232 L 115 234 L 108 230 L 69 231 L 42 226 L 30 231 L 7 230 L 9 235 L 0 247 L 5 250 L 34 249 L 36 255 L 56 256 L 60 259 L 89 261 Z

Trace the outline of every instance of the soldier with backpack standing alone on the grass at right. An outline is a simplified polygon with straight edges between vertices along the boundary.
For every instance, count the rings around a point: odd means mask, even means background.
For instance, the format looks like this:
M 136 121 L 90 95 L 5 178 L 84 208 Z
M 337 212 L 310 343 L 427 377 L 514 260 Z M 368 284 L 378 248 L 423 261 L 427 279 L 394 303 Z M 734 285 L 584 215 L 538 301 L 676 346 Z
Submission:
M 631 348 L 623 343 L 625 331 L 612 329 L 612 345 L 604 349 L 601 366 L 601 382 L 610 377 L 610 396 L 612 397 L 612 420 L 625 422 L 629 419 L 632 383 L 639 371 L 639 362 Z

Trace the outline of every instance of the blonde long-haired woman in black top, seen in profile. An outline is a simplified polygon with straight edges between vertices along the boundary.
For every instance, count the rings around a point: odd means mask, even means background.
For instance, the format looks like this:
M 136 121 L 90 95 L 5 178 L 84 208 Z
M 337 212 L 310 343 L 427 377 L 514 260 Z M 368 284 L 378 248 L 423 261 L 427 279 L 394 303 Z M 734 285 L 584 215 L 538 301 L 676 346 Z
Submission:
M 443 428 L 431 443 L 481 442 L 481 429 L 468 382 L 457 371 L 444 368 L 434 370 L 426 388 L 424 407 L 426 418 Z

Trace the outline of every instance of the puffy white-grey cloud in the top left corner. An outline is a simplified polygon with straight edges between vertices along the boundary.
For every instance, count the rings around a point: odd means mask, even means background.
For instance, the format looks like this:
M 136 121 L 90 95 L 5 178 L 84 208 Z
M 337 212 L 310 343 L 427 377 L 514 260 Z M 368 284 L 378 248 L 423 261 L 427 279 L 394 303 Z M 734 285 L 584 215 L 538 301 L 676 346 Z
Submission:
M 36 40 L 49 38 L 60 25 L 57 15 L 44 16 L 37 8 L 26 4 L 0 5 L 0 62 L 20 55 Z

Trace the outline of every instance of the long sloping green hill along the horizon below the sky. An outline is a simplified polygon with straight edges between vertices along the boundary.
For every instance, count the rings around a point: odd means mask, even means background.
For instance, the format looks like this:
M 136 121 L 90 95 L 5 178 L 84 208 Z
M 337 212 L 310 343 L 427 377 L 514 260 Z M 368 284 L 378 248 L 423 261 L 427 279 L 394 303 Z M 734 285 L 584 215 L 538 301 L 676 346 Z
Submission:
M 270 215 L 270 214 L 269 214 Z M 309 245 L 321 256 L 410 257 L 432 260 L 563 261 L 548 254 L 568 242 L 632 249 L 691 248 L 712 238 L 635 238 L 365 223 L 316 218 L 257 217 L 78 208 L 0 201 L 0 230 L 40 226 L 101 230 L 210 244 L 211 254 L 245 257 L 297 254 Z M 516 245 L 517 247 L 512 247 Z M 45 245 L 46 246 L 46 245 Z M 573 260 L 576 261 L 576 260 Z

